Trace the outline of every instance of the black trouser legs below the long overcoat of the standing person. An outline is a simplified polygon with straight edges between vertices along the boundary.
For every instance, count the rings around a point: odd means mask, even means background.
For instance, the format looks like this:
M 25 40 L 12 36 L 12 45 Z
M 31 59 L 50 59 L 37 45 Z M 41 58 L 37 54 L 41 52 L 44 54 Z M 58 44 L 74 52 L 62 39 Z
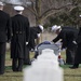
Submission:
M 22 71 L 23 70 L 23 58 L 13 58 L 12 59 L 12 69 L 13 71 Z

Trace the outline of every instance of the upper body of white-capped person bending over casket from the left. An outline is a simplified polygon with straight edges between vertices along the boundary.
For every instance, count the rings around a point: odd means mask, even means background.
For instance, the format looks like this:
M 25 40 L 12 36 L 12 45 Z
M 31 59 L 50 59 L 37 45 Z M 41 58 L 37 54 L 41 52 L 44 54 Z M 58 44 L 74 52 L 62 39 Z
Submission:
M 30 27 L 30 40 L 29 40 L 29 48 L 35 50 L 36 42 L 35 39 L 40 37 L 40 33 L 43 31 L 43 26 L 38 25 L 37 27 Z

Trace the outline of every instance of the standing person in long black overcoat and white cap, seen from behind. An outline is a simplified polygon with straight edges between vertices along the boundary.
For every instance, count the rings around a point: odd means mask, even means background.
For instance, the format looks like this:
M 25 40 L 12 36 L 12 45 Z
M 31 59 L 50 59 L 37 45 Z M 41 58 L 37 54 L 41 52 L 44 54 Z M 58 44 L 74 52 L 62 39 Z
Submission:
M 16 15 L 12 17 L 11 58 L 13 71 L 22 71 L 29 41 L 29 21 L 23 14 L 24 6 L 14 6 Z

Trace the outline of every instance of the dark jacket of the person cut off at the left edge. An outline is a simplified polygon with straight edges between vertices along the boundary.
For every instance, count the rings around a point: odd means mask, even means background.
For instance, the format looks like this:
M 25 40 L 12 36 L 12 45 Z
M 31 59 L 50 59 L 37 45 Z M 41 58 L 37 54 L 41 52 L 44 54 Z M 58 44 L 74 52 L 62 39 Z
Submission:
M 11 19 L 10 15 L 0 11 L 0 42 L 6 42 L 11 39 Z

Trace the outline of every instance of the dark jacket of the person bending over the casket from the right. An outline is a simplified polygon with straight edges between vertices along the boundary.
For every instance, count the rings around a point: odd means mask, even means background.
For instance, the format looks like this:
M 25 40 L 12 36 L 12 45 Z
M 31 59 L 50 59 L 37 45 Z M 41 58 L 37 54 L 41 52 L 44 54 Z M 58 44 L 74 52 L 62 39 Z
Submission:
M 63 46 L 62 48 L 72 48 L 75 43 L 72 41 L 76 41 L 78 37 L 78 29 L 65 27 L 62 28 L 59 35 L 53 39 L 53 42 L 57 42 L 59 39 L 62 39 Z

